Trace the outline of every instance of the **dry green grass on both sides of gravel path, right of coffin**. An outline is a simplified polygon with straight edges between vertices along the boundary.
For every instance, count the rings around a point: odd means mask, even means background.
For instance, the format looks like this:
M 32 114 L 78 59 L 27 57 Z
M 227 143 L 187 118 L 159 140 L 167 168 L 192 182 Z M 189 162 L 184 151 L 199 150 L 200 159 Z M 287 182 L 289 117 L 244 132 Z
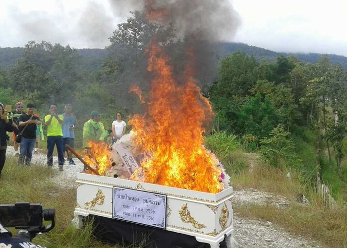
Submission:
M 288 172 L 290 180 L 286 178 Z M 234 204 L 233 210 L 241 217 L 276 223 L 293 235 L 312 238 L 329 247 L 347 247 L 346 203 L 338 201 L 335 208 L 325 207 L 321 196 L 316 193 L 316 188 L 308 182 L 309 180 L 292 168 L 279 169 L 259 164 L 252 172 L 247 169 L 231 177 L 234 189 L 256 188 L 270 192 L 276 198 L 286 197 L 289 207 Z M 296 202 L 298 193 L 305 195 L 309 205 Z

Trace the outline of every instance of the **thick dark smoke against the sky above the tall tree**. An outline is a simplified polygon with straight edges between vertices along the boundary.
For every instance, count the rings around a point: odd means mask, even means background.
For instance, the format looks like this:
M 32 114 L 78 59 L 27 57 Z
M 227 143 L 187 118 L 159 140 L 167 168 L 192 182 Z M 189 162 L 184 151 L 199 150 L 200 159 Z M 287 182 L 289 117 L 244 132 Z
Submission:
M 158 22 L 172 23 L 181 39 L 194 35 L 199 40 L 230 41 L 239 24 L 231 0 L 110 0 L 118 16 L 130 10 L 146 12 L 149 2 L 154 10 L 168 10 Z

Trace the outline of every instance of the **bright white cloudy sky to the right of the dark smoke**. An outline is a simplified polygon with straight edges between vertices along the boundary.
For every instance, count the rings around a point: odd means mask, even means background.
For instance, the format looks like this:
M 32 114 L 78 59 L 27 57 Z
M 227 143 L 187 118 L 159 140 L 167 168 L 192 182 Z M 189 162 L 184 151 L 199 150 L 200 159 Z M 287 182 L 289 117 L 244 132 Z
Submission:
M 347 2 L 233 0 L 242 25 L 235 41 L 279 52 L 347 56 Z

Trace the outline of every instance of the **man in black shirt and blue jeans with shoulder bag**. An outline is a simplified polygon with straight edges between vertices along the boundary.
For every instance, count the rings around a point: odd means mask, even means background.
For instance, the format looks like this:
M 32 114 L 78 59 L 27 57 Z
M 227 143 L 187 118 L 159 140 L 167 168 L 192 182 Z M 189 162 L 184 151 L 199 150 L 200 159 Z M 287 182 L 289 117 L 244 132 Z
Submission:
M 34 105 L 28 103 L 26 106 L 26 114 L 19 117 L 20 131 L 23 131 L 22 140 L 20 142 L 20 154 L 18 164 L 26 164 L 30 166 L 35 141 L 36 141 L 36 125 L 40 125 L 39 118 L 34 115 Z

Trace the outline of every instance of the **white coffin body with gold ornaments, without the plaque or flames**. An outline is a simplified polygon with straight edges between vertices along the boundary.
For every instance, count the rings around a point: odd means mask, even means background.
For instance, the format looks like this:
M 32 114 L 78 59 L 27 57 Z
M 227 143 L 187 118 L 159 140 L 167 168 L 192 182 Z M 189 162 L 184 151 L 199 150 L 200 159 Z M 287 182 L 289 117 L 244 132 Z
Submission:
M 112 218 L 113 187 L 137 189 L 167 195 L 166 230 L 195 236 L 211 248 L 227 235 L 228 248 L 233 247 L 232 187 L 217 194 L 169 186 L 140 183 L 124 179 L 77 173 L 76 226 L 89 214 Z

